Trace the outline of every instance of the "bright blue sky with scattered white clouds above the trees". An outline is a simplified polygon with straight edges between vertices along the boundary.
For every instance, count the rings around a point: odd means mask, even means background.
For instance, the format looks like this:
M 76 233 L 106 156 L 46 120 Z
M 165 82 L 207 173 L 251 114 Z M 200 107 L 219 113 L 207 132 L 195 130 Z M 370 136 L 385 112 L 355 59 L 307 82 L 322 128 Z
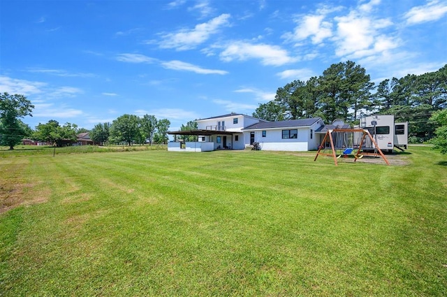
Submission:
M 374 82 L 447 64 L 447 1 L 0 1 L 0 92 L 31 128 L 120 115 L 251 115 L 278 87 L 352 60 Z

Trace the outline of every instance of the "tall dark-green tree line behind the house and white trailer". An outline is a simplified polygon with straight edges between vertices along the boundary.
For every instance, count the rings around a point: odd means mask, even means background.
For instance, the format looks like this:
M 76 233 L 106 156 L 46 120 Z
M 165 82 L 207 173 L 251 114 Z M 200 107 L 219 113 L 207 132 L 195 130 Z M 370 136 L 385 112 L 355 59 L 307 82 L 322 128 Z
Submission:
M 395 115 L 409 122 L 410 141 L 434 137 L 429 121 L 447 106 L 447 65 L 438 71 L 386 79 L 376 85 L 365 68 L 353 61 L 332 64 L 320 76 L 293 80 L 279 87 L 274 100 L 259 104 L 254 117 L 268 121 L 321 117 L 326 123 L 343 119 L 358 124 L 361 115 Z

